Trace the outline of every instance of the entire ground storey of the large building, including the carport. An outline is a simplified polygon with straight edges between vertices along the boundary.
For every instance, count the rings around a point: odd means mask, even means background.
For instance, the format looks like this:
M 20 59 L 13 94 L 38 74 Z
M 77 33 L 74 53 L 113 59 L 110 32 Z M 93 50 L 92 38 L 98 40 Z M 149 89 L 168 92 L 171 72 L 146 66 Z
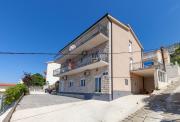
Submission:
M 110 101 L 130 94 L 149 94 L 167 85 L 167 75 L 160 69 L 141 69 L 129 74 L 129 78 L 117 80 L 111 79 L 108 66 L 85 70 L 61 77 L 59 93 L 82 99 Z

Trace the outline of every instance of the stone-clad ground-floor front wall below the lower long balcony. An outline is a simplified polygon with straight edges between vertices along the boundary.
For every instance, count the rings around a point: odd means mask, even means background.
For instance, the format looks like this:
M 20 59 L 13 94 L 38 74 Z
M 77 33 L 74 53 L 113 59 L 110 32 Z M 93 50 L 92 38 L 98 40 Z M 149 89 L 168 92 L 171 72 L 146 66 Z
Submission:
M 62 76 L 59 92 L 83 99 L 111 100 L 108 66 Z

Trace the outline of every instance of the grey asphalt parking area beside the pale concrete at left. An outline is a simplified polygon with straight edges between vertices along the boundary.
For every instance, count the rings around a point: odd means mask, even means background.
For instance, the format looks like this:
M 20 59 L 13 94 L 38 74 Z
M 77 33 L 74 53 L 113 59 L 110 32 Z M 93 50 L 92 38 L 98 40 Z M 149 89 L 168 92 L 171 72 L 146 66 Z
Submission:
M 50 94 L 33 94 L 24 96 L 16 110 L 23 110 L 28 108 L 38 108 L 49 105 L 63 104 L 82 101 L 81 99 L 57 96 Z

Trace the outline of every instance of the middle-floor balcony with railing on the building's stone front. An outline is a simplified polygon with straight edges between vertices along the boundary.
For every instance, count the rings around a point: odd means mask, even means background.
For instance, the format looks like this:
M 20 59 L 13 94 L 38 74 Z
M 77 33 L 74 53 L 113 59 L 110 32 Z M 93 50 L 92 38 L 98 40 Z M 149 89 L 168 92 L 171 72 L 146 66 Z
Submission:
M 85 58 L 83 58 L 83 60 L 76 61 L 74 65 L 73 63 L 69 63 L 62 68 L 54 70 L 53 75 L 55 77 L 60 77 L 63 75 L 73 75 L 79 72 L 92 70 L 107 65 L 108 65 L 107 54 L 98 54 L 95 56 L 87 55 Z

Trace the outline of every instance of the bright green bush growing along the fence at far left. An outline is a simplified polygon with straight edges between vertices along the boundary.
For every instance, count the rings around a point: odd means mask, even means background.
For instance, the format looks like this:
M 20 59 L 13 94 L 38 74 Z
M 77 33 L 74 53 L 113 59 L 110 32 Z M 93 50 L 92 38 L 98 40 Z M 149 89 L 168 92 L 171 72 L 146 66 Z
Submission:
M 10 105 L 20 98 L 21 95 L 27 94 L 28 88 L 24 84 L 17 84 L 5 91 L 5 104 Z

